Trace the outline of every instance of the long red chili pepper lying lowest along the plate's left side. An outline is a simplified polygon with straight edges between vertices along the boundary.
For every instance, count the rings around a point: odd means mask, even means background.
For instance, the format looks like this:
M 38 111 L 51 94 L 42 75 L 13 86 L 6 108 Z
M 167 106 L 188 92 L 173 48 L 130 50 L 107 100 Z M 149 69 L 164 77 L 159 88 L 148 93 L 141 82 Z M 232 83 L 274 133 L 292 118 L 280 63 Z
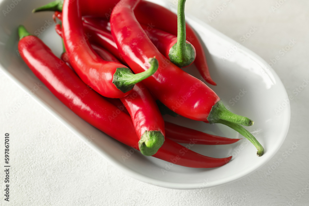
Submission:
M 36 77 L 62 103 L 89 124 L 138 150 L 139 139 L 129 115 L 121 111 L 111 119 L 117 107 L 94 90 L 89 90 L 66 64 L 57 67 L 56 64 L 61 60 L 39 38 L 31 36 L 23 26 L 19 27 L 19 36 L 18 49 L 21 57 Z M 81 96 L 81 93 L 84 96 Z M 206 157 L 168 139 L 153 156 L 177 165 L 195 168 L 218 167 L 231 160 L 231 157 Z

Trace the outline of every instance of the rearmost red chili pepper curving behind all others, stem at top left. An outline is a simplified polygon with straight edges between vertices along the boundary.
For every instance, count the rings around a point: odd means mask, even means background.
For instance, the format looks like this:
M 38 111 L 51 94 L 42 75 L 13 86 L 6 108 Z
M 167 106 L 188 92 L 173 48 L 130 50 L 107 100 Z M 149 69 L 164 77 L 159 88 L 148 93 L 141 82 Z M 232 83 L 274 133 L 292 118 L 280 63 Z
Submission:
M 95 17 L 103 17 L 109 19 L 113 7 L 119 1 L 120 0 L 84 0 L 80 2 L 80 7 L 82 9 L 82 14 L 85 16 L 91 15 Z M 55 4 L 58 5 L 55 6 Z M 61 0 L 57 0 L 55 2 L 51 2 L 47 5 L 41 6 L 40 8 L 33 10 L 33 12 L 38 11 L 62 11 L 62 2 Z M 173 35 L 177 35 L 177 15 L 166 9 L 165 7 L 148 1 L 141 1 L 134 11 L 138 22 L 145 25 L 151 24 L 160 30 L 166 31 Z M 216 83 L 210 77 L 205 52 L 199 40 L 199 37 L 194 32 L 193 28 L 190 27 L 190 25 L 188 24 L 186 24 L 186 34 L 187 40 L 194 46 L 196 50 L 196 58 L 194 64 L 196 65 L 198 71 L 206 82 L 212 85 L 216 85 Z

